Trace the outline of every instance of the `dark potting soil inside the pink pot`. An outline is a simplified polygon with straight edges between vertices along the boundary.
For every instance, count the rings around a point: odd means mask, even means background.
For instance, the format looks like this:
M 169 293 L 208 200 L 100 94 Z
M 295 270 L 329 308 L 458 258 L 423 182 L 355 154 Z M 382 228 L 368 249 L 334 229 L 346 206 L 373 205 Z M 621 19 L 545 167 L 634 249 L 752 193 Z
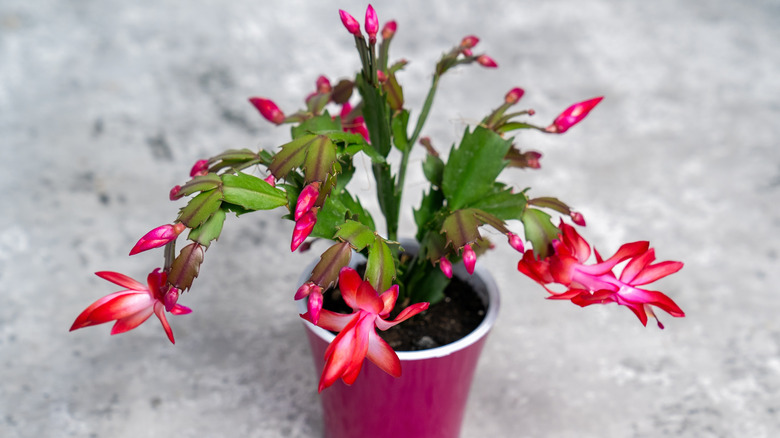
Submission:
M 443 300 L 431 305 L 424 312 L 386 331 L 377 330 L 377 333 L 395 351 L 427 350 L 465 337 L 485 318 L 485 305 L 466 282 L 453 278 L 444 290 L 444 295 Z M 352 309 L 344 303 L 339 293 L 330 291 L 324 294 L 323 299 L 325 309 L 352 313 Z M 388 319 L 394 319 L 396 313 Z

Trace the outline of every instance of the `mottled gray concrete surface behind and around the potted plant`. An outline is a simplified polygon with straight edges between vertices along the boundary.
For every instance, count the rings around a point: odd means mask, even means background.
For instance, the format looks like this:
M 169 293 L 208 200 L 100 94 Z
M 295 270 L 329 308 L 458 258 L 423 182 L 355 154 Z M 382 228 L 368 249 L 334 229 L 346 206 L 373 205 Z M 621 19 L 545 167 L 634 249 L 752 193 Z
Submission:
M 687 317 L 662 315 L 660 331 L 624 308 L 545 301 L 505 245 L 484 257 L 504 307 L 463 437 L 779 436 L 780 4 L 374 6 L 399 20 L 413 107 L 435 58 L 466 34 L 500 64 L 445 77 L 426 132 L 442 147 L 513 86 L 540 123 L 605 95 L 564 136 L 523 134 L 543 170 L 509 176 L 582 211 L 604 253 L 648 239 L 686 263 L 658 288 Z M 229 219 L 182 299 L 194 313 L 171 318 L 176 346 L 155 321 L 113 338 L 68 328 L 115 290 L 92 272 L 143 278 L 161 263 L 126 254 L 174 217 L 167 191 L 196 159 L 286 138 L 247 97 L 292 110 L 317 75 L 352 74 L 338 8 L 365 5 L 0 3 L 0 436 L 319 436 L 290 300 L 313 255 L 285 249 L 291 224 L 276 213 Z

